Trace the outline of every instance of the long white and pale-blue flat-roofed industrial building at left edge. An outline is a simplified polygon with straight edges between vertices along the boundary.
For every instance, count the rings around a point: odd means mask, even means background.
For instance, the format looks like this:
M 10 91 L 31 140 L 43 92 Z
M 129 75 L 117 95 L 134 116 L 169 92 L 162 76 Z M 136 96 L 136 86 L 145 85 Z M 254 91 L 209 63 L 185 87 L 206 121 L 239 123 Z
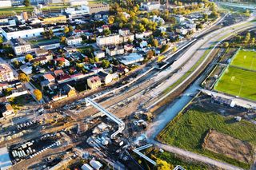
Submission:
M 2 28 L 2 36 L 6 38 L 6 40 L 14 39 L 14 38 L 33 38 L 41 36 L 44 29 L 33 28 L 32 26 L 9 26 Z

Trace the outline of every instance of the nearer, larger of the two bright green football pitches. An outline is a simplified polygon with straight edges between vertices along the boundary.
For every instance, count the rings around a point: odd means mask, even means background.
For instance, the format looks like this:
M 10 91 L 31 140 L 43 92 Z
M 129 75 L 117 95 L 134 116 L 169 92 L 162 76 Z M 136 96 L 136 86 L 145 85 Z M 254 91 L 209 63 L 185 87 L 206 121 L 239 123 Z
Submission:
M 255 72 L 229 66 L 214 86 L 214 89 L 234 96 L 256 100 L 255 80 Z

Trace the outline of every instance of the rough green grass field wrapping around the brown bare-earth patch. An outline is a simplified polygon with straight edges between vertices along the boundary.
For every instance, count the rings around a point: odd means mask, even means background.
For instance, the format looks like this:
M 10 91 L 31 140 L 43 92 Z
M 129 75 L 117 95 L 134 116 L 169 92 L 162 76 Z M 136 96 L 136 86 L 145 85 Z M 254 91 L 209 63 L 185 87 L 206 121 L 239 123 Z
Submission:
M 186 113 L 179 114 L 178 117 L 175 117 L 174 121 L 171 121 L 160 132 L 158 140 L 248 169 L 250 168 L 250 164 L 242 163 L 202 148 L 203 139 L 210 128 L 214 128 L 218 132 L 233 136 L 239 140 L 245 140 L 255 146 L 256 125 L 245 120 L 230 123 L 233 120 L 234 117 L 223 117 L 218 113 L 199 106 L 192 106 Z

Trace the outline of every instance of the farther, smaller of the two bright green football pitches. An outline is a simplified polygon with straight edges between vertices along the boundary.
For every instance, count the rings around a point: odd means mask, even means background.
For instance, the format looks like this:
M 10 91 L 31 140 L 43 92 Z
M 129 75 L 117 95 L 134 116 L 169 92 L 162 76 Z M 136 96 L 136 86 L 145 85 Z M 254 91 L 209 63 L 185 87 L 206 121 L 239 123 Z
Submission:
M 239 50 L 231 62 L 231 65 L 239 66 L 245 69 L 256 70 L 256 52 Z

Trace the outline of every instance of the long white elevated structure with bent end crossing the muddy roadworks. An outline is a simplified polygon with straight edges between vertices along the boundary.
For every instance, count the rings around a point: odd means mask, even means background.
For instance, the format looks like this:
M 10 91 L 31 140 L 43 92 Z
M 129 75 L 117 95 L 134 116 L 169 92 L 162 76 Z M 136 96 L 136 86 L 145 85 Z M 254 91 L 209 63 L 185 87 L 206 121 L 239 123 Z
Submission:
M 114 114 L 110 113 L 109 111 L 107 111 L 106 109 L 104 109 L 101 105 L 98 105 L 98 103 L 96 103 L 95 101 L 93 101 L 90 98 L 86 98 L 86 102 L 90 103 L 90 105 L 94 106 L 94 108 L 98 109 L 98 111 L 100 111 L 103 115 L 106 115 L 106 117 L 109 117 L 112 121 L 114 121 L 116 124 L 118 124 L 118 130 L 116 132 L 114 132 L 113 134 L 111 134 L 111 139 L 114 139 L 115 136 L 118 135 L 118 133 L 122 132 L 125 129 L 125 123 L 119 119 L 118 117 L 116 117 Z

